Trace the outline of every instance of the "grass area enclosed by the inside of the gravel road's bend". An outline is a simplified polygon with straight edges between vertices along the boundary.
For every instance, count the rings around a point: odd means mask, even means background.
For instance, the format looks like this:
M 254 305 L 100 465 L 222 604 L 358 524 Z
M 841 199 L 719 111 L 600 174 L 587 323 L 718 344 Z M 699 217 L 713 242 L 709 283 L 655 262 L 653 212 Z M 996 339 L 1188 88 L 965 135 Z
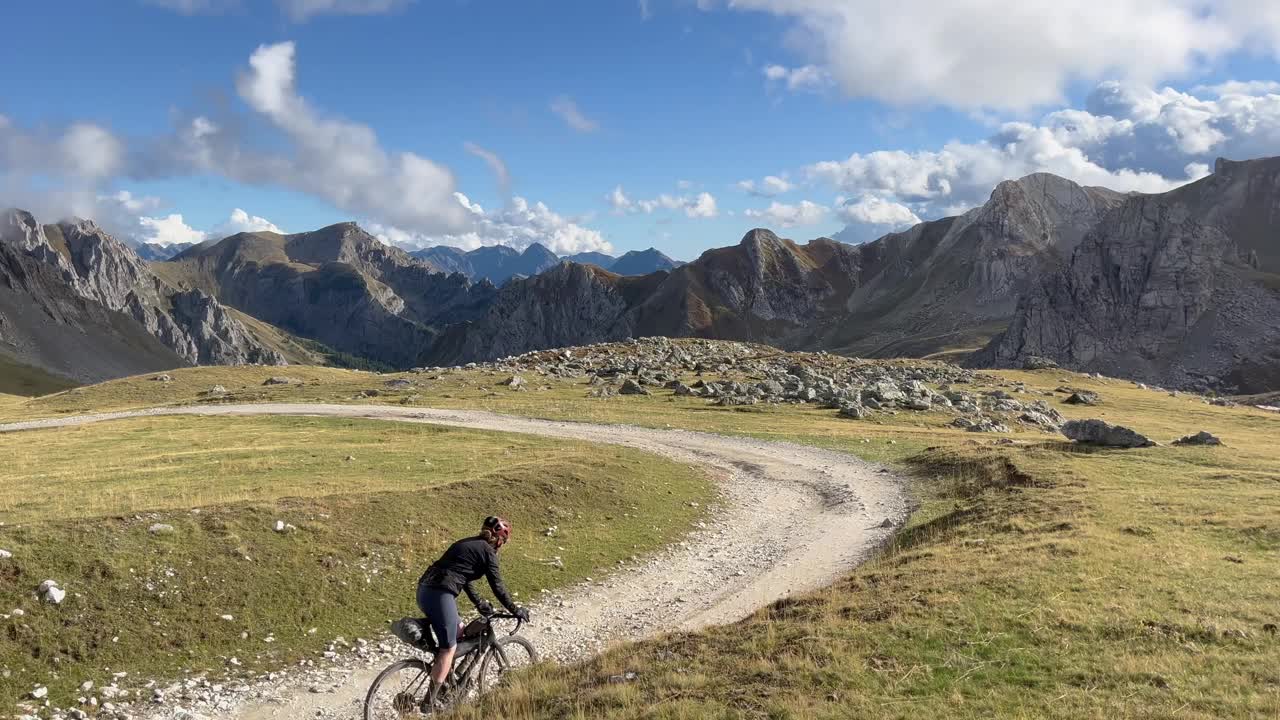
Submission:
M 713 496 L 703 473 L 634 450 L 375 420 L 148 418 L 0 443 L 0 616 L 24 611 L 0 620 L 0 697 L 47 684 L 64 705 L 113 673 L 234 676 L 374 637 L 493 512 L 516 528 L 508 584 L 532 602 L 673 542 Z M 63 605 L 35 598 L 45 579 Z

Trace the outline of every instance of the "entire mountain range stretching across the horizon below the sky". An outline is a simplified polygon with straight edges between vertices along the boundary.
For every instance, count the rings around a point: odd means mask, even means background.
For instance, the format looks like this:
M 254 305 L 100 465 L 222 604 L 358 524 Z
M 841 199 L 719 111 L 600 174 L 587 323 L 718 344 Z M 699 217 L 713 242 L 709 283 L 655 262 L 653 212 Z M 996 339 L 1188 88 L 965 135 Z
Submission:
M 92 223 L 38 225 L 20 211 L 6 223 L 0 352 L 77 378 L 316 357 L 407 368 L 663 334 L 1280 387 L 1280 159 L 1219 161 L 1160 195 L 1033 174 L 873 242 L 754 229 L 687 264 L 657 251 L 562 259 L 540 245 L 410 255 L 353 223 L 241 233 L 145 263 Z M 59 238 L 74 240 L 64 251 Z M 111 284 L 136 288 L 132 304 L 78 290 L 77 249 L 90 245 L 91 274 L 119 274 Z M 184 345 L 160 315 L 189 328 L 192 304 L 220 320 Z M 69 368 L 59 359 L 81 341 L 118 360 Z

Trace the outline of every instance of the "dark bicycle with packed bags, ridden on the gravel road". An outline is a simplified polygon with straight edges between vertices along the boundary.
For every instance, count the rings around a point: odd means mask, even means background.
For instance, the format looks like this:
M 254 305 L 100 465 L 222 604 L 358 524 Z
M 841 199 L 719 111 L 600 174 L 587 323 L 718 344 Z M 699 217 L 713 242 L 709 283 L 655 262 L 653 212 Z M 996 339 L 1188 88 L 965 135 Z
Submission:
M 498 637 L 494 620 L 516 620 L 516 629 Z M 421 639 L 406 637 L 404 624 L 417 624 Z M 397 628 L 399 625 L 399 628 Z M 498 687 L 503 675 L 538 662 L 538 651 L 529 639 L 518 637 L 525 621 L 515 615 L 493 612 L 472 620 L 458 639 L 453 669 L 440 688 L 434 710 L 445 710 L 475 700 Z M 392 625 L 396 635 L 422 653 L 436 652 L 435 638 L 425 620 L 403 619 Z M 383 670 L 365 696 L 365 720 L 398 720 L 417 716 L 430 688 L 431 660 L 410 657 Z M 385 691 L 381 692 L 380 691 Z

